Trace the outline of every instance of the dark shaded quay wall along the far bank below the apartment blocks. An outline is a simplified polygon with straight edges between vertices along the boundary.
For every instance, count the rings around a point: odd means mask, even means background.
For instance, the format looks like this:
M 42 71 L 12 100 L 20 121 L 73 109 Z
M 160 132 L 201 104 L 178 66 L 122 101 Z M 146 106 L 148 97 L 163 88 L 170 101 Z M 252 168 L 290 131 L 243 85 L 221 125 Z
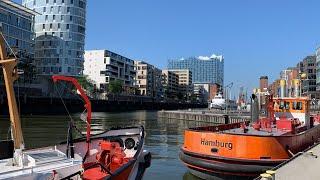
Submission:
M 80 99 L 64 99 L 70 113 L 82 112 L 84 110 L 84 102 Z M 206 105 L 185 104 L 179 102 L 143 102 L 143 101 L 110 101 L 110 100 L 91 100 L 93 112 L 120 112 L 134 110 L 170 110 L 170 109 L 187 109 L 187 108 L 203 108 Z M 51 115 L 66 114 L 60 98 L 20 98 L 17 101 L 20 113 L 23 115 Z M 1 115 L 8 115 L 8 105 L 6 99 L 0 101 Z

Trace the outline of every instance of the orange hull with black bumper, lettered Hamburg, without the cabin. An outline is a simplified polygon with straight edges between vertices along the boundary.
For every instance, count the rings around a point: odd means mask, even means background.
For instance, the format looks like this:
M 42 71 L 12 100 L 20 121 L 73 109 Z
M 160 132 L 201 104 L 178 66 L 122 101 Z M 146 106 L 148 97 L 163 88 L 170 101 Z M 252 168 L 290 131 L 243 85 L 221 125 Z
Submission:
M 320 138 L 320 125 L 297 134 L 257 136 L 210 132 L 199 129 L 185 131 L 180 159 L 192 170 L 256 176 L 304 151 Z

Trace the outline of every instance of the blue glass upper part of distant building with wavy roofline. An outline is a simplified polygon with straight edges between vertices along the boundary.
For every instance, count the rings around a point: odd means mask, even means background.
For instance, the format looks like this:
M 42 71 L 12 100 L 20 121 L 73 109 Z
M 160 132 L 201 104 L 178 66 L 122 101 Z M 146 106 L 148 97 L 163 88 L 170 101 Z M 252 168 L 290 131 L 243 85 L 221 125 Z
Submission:
M 189 69 L 192 72 L 192 83 L 217 83 L 223 85 L 223 56 L 190 57 L 180 60 L 169 60 L 168 69 Z

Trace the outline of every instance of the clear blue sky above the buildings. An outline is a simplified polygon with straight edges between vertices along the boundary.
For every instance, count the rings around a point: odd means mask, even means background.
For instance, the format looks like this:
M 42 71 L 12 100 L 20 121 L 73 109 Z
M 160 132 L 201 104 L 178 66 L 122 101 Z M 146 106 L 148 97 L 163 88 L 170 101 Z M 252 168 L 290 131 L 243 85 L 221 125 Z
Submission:
M 19 0 L 17 0 L 19 2 Z M 109 49 L 165 68 L 167 59 L 222 54 L 225 82 L 249 89 L 260 75 L 315 53 L 320 1 L 88 0 L 86 49 Z

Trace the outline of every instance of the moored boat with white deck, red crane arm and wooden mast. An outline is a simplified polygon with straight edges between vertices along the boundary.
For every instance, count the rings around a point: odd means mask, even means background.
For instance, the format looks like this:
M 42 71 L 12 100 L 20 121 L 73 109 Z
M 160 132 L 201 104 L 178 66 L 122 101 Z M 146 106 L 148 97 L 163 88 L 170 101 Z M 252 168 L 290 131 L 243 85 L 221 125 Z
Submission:
M 0 179 L 141 179 L 151 154 L 143 149 L 141 127 L 111 128 L 91 136 L 91 103 L 75 78 L 53 76 L 71 82 L 85 102 L 85 136 L 73 138 L 72 118 L 64 143 L 25 149 L 13 82 L 18 78 L 17 59 L 7 57 L 0 32 L 0 64 L 3 69 L 11 121 L 11 138 L 0 140 Z M 10 47 L 9 47 L 10 48 Z M 50 127 L 48 127 L 50 128 Z M 81 134 L 81 133 L 80 133 Z

